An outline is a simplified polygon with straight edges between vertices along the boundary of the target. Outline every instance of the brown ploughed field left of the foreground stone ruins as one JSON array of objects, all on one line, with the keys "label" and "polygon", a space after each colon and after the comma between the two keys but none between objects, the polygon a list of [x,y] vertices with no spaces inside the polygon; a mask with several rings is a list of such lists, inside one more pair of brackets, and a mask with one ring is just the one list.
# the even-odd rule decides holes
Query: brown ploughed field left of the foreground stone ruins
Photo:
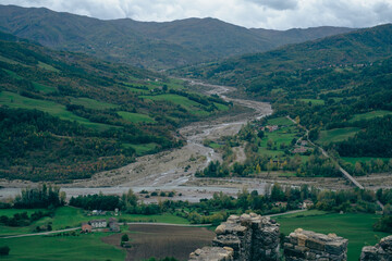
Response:
[{"label": "brown ploughed field left of the foreground stone ruins", "polygon": [[[126,250],[126,260],[145,260],[151,257],[174,257],[187,260],[197,248],[210,246],[215,233],[206,227],[184,227],[168,225],[131,225],[126,234],[131,248]],[[124,233],[103,237],[102,241],[120,247]]]}]

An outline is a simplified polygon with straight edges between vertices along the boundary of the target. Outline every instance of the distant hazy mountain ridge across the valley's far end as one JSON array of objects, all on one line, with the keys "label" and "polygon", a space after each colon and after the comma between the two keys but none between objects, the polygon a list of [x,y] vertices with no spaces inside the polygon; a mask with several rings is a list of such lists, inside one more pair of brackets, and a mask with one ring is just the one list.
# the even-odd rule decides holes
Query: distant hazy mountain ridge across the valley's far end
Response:
[{"label": "distant hazy mountain ridge across the valley's far end", "polygon": [[247,29],[216,18],[166,23],[101,21],[45,8],[0,5],[0,29],[44,46],[114,62],[170,69],[354,30],[317,27],[284,32]]}]

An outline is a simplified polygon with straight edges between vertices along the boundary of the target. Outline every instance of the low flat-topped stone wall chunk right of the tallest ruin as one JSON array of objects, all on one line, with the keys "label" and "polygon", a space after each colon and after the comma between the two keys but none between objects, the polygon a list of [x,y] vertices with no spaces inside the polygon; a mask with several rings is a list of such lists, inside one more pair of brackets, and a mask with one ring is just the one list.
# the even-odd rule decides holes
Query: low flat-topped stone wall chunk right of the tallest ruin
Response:
[{"label": "low flat-topped stone wall chunk right of the tallest ruin", "polygon": [[348,240],[335,234],[319,234],[297,228],[284,241],[286,261],[343,261],[347,260]]}]

